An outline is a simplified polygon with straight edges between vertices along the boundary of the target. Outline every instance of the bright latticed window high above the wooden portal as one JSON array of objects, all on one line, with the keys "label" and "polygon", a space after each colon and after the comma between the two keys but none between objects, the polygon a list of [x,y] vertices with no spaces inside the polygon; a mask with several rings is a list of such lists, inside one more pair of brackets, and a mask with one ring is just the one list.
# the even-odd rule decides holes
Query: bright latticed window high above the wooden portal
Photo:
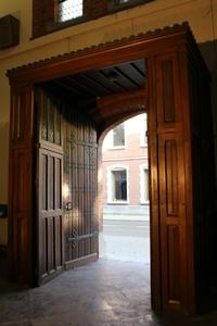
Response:
[{"label": "bright latticed window high above the wooden portal", "polygon": [[82,16],[82,0],[59,0],[59,22]]}]

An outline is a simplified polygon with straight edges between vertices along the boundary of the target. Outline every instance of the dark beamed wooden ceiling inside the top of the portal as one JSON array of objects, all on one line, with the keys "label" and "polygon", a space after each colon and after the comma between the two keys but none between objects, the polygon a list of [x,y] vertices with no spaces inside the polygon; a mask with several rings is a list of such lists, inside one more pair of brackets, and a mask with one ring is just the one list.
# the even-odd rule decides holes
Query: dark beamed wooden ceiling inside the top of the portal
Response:
[{"label": "dark beamed wooden ceiling inside the top of the portal", "polygon": [[52,79],[43,86],[59,96],[90,99],[144,88],[145,75],[144,60],[137,60]]}]

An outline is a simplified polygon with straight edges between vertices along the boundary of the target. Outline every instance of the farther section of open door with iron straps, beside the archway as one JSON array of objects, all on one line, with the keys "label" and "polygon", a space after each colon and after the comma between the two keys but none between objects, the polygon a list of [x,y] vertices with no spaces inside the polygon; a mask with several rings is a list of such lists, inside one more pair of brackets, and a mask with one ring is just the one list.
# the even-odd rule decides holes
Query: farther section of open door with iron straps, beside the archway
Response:
[{"label": "farther section of open door with iron straps, beside the archway", "polygon": [[64,202],[66,268],[95,261],[99,254],[97,131],[78,108],[65,108]]}]

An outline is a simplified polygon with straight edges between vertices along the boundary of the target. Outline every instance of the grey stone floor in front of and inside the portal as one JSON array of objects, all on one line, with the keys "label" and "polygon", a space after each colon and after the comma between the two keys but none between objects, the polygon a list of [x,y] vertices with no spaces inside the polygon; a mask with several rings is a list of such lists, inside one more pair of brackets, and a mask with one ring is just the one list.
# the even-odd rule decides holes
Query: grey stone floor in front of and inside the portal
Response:
[{"label": "grey stone floor in front of and inside the portal", "polygon": [[192,317],[152,313],[149,268],[144,262],[100,259],[64,272],[40,288],[23,290],[9,286],[1,275],[0,325],[217,325],[217,313]]}]

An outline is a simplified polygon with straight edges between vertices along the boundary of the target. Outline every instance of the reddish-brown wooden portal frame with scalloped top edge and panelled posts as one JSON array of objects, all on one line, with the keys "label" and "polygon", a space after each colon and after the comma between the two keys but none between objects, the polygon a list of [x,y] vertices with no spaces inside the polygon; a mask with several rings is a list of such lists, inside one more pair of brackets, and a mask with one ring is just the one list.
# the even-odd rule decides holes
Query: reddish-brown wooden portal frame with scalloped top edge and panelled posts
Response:
[{"label": "reddish-brown wooden portal frame with scalloped top edge and panelled posts", "polygon": [[[48,59],[8,73],[11,84],[10,268],[14,278],[26,281],[33,276],[34,85],[138,59],[145,61],[148,74],[143,91],[151,166],[152,306],[192,313],[197,308],[197,283],[203,276],[196,266],[204,260],[203,253],[196,250],[203,238],[195,228],[197,218],[205,218],[203,210],[208,201],[203,209],[196,203],[205,191],[214,193],[214,184],[212,177],[209,184],[199,181],[202,168],[209,166],[209,175],[213,173],[212,147],[206,147],[208,162],[195,168],[194,158],[200,156],[201,143],[210,143],[209,76],[188,24]],[[205,127],[201,128],[204,109]],[[116,118],[125,115],[120,106],[119,111],[110,117],[110,124],[114,123],[115,115]],[[107,127],[106,105],[101,103],[93,114],[102,133]],[[207,193],[203,198],[207,199]]]}]

